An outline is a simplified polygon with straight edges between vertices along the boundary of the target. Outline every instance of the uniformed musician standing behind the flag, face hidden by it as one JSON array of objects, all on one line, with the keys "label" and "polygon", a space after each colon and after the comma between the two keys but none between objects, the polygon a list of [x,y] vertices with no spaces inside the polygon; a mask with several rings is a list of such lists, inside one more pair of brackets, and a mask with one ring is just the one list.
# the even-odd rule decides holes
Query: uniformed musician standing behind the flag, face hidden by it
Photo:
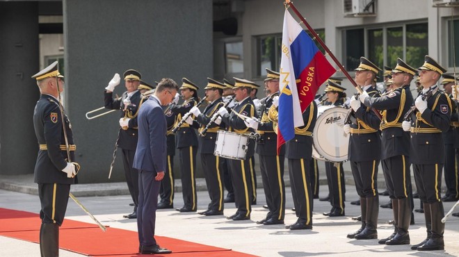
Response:
[{"label": "uniformed musician standing behind the flag, face hidden by it", "polygon": [[[268,110],[269,119],[274,122],[274,131],[277,131],[277,106],[279,97],[273,97],[273,105]],[[289,163],[290,188],[298,219],[295,223],[285,226],[286,229],[312,229],[312,209],[314,206],[312,187],[309,182],[309,163],[312,158],[312,131],[316,126],[317,105],[315,101],[303,112],[304,126],[295,128],[295,138],[285,144],[285,156]],[[301,151],[298,151],[301,149]]]}]

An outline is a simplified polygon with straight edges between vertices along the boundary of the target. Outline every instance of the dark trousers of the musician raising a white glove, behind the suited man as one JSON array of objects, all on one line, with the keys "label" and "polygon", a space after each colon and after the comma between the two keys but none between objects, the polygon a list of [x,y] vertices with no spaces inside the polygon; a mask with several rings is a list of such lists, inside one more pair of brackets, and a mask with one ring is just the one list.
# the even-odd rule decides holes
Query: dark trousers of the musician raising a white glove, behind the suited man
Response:
[{"label": "dark trousers of the musician raising a white glove, behind the suited man", "polygon": [[135,150],[122,149],[122,163],[124,166],[124,176],[126,176],[127,188],[131,194],[132,201],[134,201],[134,211],[137,210],[138,205],[138,170],[134,169],[134,155]]}]

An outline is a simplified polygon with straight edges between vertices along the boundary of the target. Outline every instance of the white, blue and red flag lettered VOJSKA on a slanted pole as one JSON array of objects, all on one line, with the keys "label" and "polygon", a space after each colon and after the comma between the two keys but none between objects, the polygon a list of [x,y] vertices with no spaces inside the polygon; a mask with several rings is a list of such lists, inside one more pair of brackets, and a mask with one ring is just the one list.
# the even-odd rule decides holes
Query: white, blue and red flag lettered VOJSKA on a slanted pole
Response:
[{"label": "white, blue and red flag lettered VOJSKA on a slanted pole", "polygon": [[295,137],[296,127],[304,126],[303,111],[314,101],[322,83],[335,72],[336,69],[286,9],[282,29],[277,151]]}]

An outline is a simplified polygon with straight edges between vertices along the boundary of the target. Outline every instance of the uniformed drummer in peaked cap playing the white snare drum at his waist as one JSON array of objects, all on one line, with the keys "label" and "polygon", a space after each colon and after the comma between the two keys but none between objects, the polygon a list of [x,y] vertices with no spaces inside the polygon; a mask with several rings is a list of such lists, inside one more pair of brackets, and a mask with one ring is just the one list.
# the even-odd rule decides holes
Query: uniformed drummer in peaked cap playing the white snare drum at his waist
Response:
[{"label": "uniformed drummer in peaked cap playing the white snare drum at his waist", "polygon": [[[250,92],[253,88],[257,87],[252,81],[242,78],[234,78],[234,94],[238,103],[232,108],[232,112],[228,113],[227,108],[220,107],[218,115],[221,116],[222,121],[227,127],[227,131],[236,134],[245,134],[255,132],[253,128],[248,127],[244,119],[236,115],[239,113],[246,117],[257,117],[255,113],[255,106],[252,99],[250,99]],[[230,162],[230,172],[234,185],[234,196],[236,204],[236,213],[227,217],[232,220],[250,219],[252,212],[252,181],[251,181],[251,167],[250,158],[255,153],[255,140],[248,139],[248,150],[243,160],[228,160]]]}]

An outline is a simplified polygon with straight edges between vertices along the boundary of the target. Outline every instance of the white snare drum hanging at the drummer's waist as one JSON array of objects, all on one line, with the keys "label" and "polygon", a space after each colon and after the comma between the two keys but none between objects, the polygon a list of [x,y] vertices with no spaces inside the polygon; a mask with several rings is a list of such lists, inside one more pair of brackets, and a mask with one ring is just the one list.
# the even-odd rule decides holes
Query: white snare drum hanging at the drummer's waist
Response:
[{"label": "white snare drum hanging at the drummer's waist", "polygon": [[244,160],[248,150],[248,136],[234,132],[218,131],[215,142],[215,156]]}]

